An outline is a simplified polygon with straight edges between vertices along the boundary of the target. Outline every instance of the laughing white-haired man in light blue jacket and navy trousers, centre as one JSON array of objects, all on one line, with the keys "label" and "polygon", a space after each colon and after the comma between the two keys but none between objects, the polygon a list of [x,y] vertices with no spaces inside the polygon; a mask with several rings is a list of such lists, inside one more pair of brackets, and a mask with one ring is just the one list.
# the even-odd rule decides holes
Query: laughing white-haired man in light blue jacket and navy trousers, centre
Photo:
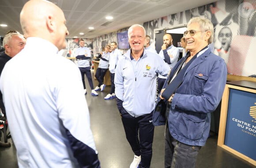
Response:
[{"label": "laughing white-haired man in light blue jacket and navy trousers, centre", "polygon": [[118,61],[115,74],[117,107],[126,138],[135,153],[130,168],[137,168],[140,161],[142,168],[150,167],[156,73],[167,76],[170,70],[157,53],[144,50],[145,37],[145,29],[141,25],[128,29],[131,49]]}]

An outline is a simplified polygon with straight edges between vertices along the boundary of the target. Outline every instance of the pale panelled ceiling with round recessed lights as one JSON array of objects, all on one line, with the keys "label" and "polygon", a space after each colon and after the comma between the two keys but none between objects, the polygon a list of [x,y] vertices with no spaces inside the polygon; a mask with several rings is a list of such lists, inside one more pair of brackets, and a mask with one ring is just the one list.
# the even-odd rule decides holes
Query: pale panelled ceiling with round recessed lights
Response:
[{"label": "pale panelled ceiling with round recessed lights", "polygon": [[[0,0],[0,36],[14,29],[23,33],[19,23],[19,13],[28,0]],[[94,38],[133,24],[143,24],[156,18],[210,4],[216,0],[50,0],[63,11],[67,20],[68,38]],[[113,16],[109,22],[106,16]],[[90,32],[88,27],[94,27]],[[84,35],[79,35],[83,32]]]}]

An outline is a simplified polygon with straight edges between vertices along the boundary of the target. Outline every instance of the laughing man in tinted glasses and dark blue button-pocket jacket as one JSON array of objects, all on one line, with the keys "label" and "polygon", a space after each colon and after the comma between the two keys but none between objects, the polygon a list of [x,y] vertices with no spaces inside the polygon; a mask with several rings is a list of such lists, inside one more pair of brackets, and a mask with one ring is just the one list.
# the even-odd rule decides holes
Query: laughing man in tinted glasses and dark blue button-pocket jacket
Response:
[{"label": "laughing man in tinted glasses and dark blue button-pocket jacket", "polygon": [[158,99],[168,100],[166,113],[153,116],[154,125],[166,124],[165,168],[196,167],[210,131],[211,112],[226,84],[226,64],[208,47],[214,37],[211,21],[192,18],[187,29],[189,52],[171,70]]}]

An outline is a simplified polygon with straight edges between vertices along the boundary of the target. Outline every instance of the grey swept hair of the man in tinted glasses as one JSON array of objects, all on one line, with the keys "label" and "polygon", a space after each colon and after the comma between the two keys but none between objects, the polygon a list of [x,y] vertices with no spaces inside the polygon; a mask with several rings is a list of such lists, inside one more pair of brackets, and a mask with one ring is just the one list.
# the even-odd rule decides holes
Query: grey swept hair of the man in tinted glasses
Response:
[{"label": "grey swept hair of the man in tinted glasses", "polygon": [[[190,26],[192,23],[198,23],[200,25],[201,31],[211,31],[211,37],[208,40],[208,43],[211,44],[214,37],[214,29],[213,29],[212,22],[209,19],[204,17],[196,17],[196,18],[190,19],[190,21],[187,24],[187,27]],[[202,35],[204,33],[202,33]]]}]

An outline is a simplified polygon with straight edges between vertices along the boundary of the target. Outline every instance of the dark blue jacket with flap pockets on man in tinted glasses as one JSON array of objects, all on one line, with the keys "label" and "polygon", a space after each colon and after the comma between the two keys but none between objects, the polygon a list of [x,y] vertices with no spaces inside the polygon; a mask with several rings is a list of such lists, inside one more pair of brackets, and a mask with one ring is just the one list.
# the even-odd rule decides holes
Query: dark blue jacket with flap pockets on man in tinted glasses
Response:
[{"label": "dark blue jacket with flap pockets on man in tinted glasses", "polygon": [[[179,62],[169,77],[173,76]],[[224,60],[211,53],[209,48],[191,63],[169,110],[169,130],[174,139],[192,146],[204,146],[210,131],[211,112],[222,99],[226,78]],[[166,87],[167,80],[163,88]],[[165,114],[154,112],[153,124],[166,124]]]}]

